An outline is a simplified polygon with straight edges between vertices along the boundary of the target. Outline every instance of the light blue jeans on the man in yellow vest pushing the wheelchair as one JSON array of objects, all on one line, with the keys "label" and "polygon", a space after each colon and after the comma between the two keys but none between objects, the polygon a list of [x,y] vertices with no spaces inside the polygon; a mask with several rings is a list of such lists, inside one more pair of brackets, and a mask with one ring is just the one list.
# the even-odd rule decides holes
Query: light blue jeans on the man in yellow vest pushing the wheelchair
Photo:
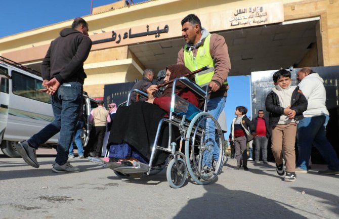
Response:
[{"label": "light blue jeans on the man in yellow vest pushing the wheelchair", "polygon": [[[218,120],[221,112],[224,110],[226,97],[216,97],[207,102],[207,112]],[[216,125],[211,119],[206,120],[206,130],[204,142],[206,150],[203,153],[202,162],[210,167],[212,159],[219,160],[219,139],[216,140]]]}]

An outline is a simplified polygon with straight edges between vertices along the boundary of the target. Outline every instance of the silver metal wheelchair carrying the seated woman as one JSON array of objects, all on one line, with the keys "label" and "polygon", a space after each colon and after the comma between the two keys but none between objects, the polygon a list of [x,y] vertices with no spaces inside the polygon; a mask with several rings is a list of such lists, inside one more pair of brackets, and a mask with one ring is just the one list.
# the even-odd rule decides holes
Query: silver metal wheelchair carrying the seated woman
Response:
[{"label": "silver metal wheelchair carrying the seated woman", "polygon": [[[204,100],[202,110],[175,94],[175,86],[178,81],[188,86]],[[133,166],[112,168],[116,176],[119,178],[128,178],[130,176],[135,176],[135,174],[152,175],[160,172],[167,166],[166,178],[172,188],[182,187],[188,176],[190,176],[198,185],[206,185],[214,181],[221,172],[224,159],[226,158],[224,156],[224,134],[222,129],[218,121],[206,112],[208,100],[207,89],[204,91],[187,77],[174,79],[169,117],[160,119],[158,123],[155,140],[151,146],[152,153],[149,163],[136,162]],[[130,105],[130,97],[133,92],[147,97],[147,94],[140,90],[132,90],[129,92],[126,105]],[[213,126],[215,126],[215,129],[211,131],[215,133],[215,139],[211,140],[206,138],[206,132],[208,132],[208,130],[206,130],[206,123],[214,124]],[[159,139],[161,139],[160,130],[165,124],[169,127],[167,148],[158,145]],[[176,138],[176,140],[179,140],[179,138],[182,139],[183,146],[185,146],[184,153],[181,152],[180,149],[177,150],[177,143],[172,141],[173,128],[177,128],[180,132],[180,136]],[[214,161],[214,164],[211,164],[211,170],[206,173],[203,169],[204,154],[207,150],[211,149],[210,143],[213,141],[215,141],[219,147],[219,160]],[[159,150],[169,154],[166,159],[167,165],[153,165],[155,154]],[[107,150],[106,156],[108,155],[109,151]],[[104,164],[101,163],[101,165]]]}]

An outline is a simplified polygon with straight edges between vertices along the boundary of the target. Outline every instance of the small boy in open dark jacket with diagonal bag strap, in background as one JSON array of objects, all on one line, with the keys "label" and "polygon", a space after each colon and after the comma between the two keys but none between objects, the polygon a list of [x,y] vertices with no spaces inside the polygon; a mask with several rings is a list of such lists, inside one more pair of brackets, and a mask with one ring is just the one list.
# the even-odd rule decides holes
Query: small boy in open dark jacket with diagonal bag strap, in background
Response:
[{"label": "small boy in open dark jacket with diagonal bag strap, in background", "polygon": [[253,139],[253,136],[248,130],[251,121],[247,118],[246,113],[246,107],[236,107],[234,112],[236,117],[233,119],[231,125],[230,141],[234,141],[235,158],[237,159],[238,163],[234,169],[240,169],[242,155],[242,167],[244,168],[244,170],[248,170],[246,143],[251,141]]}]

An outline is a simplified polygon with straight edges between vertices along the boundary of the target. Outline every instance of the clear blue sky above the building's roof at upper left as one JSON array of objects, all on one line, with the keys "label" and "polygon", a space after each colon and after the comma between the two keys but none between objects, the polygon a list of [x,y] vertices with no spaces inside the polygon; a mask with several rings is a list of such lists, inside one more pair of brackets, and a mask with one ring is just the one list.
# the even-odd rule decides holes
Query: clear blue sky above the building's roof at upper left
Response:
[{"label": "clear blue sky above the building's roof at upper left", "polygon": [[[0,38],[26,30],[89,15],[91,0],[12,0],[1,1]],[[117,2],[93,0],[93,7]],[[146,0],[134,0],[134,3]]]}]

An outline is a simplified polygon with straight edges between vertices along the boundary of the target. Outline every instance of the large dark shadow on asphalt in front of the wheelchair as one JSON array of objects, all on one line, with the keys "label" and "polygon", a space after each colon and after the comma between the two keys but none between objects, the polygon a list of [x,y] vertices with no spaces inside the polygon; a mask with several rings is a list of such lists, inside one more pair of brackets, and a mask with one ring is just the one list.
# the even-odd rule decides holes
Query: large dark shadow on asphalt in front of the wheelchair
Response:
[{"label": "large dark shadow on asphalt in front of the wheelchair", "polygon": [[207,191],[205,195],[201,198],[190,200],[174,219],[307,218],[287,209],[274,200],[250,192],[229,190],[218,184],[209,184],[204,186],[204,188]]}]

